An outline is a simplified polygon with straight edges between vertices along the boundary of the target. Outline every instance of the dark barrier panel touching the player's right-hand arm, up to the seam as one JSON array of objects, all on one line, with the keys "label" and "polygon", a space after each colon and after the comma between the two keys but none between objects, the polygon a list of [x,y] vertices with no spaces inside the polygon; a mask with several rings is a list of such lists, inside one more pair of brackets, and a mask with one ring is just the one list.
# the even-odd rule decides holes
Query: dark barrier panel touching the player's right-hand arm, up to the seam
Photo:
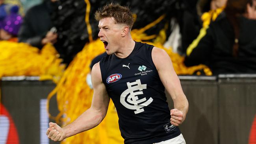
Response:
[{"label": "dark barrier panel touching the player's right-hand arm, up to the seam", "polygon": [[[180,126],[187,144],[218,144],[218,86],[216,77],[179,76],[189,102],[186,120]],[[166,92],[170,109],[171,96]]]}]

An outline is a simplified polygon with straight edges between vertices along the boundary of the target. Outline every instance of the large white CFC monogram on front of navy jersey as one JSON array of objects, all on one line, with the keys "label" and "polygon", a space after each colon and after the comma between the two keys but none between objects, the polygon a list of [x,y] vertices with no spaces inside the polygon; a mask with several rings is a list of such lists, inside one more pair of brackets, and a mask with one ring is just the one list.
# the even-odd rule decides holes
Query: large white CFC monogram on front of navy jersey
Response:
[{"label": "large white CFC monogram on front of navy jersey", "polygon": [[[151,102],[153,102],[153,99],[151,97],[148,100],[146,98],[142,98],[139,100],[137,95],[143,94],[142,90],[147,89],[147,84],[141,85],[140,79],[137,79],[135,82],[132,83],[128,82],[127,87],[128,89],[124,90],[124,92],[122,92],[121,94],[120,102],[127,109],[136,110],[134,111],[135,114],[143,112],[143,107],[146,107]],[[128,103],[125,101],[126,97]]]}]

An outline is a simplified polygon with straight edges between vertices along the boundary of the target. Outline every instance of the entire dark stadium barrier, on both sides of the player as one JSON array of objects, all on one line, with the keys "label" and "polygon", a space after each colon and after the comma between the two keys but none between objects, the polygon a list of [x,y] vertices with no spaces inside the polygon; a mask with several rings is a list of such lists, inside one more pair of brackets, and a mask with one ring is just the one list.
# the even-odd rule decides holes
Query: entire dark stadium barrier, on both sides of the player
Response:
[{"label": "entire dark stadium barrier, on both sides of the player", "polygon": [[[179,78],[189,101],[189,113],[180,126],[187,144],[248,144],[256,115],[256,75]],[[56,144],[45,137],[46,97],[55,84],[38,77],[4,77],[0,87],[1,103],[13,119],[20,144]],[[167,101],[173,108],[169,94]],[[50,112],[58,113],[54,98]],[[2,126],[6,121],[0,120]]]}]

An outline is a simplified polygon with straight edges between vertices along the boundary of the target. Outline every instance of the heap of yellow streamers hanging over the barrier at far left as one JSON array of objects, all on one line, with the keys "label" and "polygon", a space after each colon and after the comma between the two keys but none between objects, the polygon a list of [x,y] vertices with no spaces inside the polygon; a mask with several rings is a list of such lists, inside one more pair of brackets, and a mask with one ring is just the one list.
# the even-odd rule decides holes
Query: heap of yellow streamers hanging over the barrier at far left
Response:
[{"label": "heap of yellow streamers hanging over the barrier at far left", "polygon": [[0,78],[2,76],[40,76],[57,82],[65,65],[51,44],[42,50],[25,43],[0,41]]}]

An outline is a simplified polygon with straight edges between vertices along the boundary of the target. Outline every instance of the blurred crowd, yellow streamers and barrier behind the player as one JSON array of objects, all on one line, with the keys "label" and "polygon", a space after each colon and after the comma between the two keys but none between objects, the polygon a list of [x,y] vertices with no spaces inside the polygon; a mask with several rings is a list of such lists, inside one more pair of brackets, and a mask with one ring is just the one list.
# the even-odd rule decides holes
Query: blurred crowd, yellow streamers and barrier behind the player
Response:
[{"label": "blurred crowd, yellow streamers and barrier behind the player", "polygon": [[135,41],[171,57],[189,101],[187,144],[256,144],[256,0],[0,0],[0,144],[123,143],[112,102],[94,129],[45,135],[91,106],[105,52],[94,13],[111,2],[130,7]]}]

